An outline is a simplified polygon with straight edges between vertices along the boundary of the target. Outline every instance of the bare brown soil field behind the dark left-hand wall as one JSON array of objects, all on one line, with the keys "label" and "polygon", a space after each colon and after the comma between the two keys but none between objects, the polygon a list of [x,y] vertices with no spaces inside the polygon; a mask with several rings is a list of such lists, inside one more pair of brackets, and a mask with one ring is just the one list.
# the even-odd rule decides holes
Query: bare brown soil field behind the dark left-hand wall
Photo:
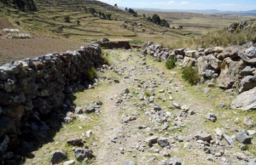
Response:
[{"label": "bare brown soil field behind the dark left-hand wall", "polygon": [[[4,28],[17,28],[9,24],[6,19],[0,19],[0,31]],[[66,52],[76,50],[85,43],[70,41],[67,39],[43,37],[32,35],[32,39],[9,39],[6,34],[0,36],[0,65],[13,60],[34,58],[53,52]]]}]

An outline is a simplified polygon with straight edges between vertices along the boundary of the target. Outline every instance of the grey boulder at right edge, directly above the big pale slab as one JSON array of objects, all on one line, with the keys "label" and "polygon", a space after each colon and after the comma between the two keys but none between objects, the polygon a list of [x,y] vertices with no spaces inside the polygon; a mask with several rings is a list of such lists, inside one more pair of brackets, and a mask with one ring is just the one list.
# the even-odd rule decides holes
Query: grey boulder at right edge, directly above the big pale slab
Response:
[{"label": "grey boulder at right edge, directly above the big pale slab", "polygon": [[254,87],[256,87],[256,77],[253,77],[253,76],[244,77],[240,83],[239,93],[250,90]]}]

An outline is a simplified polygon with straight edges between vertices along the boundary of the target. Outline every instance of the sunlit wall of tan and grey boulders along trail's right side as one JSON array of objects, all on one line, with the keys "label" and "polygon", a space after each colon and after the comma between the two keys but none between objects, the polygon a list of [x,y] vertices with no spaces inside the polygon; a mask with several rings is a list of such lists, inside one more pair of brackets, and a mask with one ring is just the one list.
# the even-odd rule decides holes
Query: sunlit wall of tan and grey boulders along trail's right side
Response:
[{"label": "sunlit wall of tan and grey boulders along trail's right side", "polygon": [[[244,111],[256,107],[256,45],[246,43],[228,48],[163,48],[152,42],[144,43],[143,55],[152,55],[155,60],[168,60],[170,57],[185,67],[195,67],[201,75],[201,83],[216,82],[227,92],[238,90],[240,94],[231,104],[233,109]],[[245,99],[246,98],[246,99]]]}]

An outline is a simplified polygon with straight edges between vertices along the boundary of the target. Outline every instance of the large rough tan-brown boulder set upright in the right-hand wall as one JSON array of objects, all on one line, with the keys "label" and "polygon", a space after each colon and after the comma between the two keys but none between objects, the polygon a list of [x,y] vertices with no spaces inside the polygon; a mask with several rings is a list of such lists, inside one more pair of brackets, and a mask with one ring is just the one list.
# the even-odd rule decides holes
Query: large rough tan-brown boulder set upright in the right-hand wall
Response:
[{"label": "large rough tan-brown boulder set upright in the right-hand wall", "polygon": [[224,59],[221,65],[221,72],[217,79],[219,88],[232,88],[233,84],[241,79],[241,71],[245,64],[242,60],[233,61],[230,58]]}]

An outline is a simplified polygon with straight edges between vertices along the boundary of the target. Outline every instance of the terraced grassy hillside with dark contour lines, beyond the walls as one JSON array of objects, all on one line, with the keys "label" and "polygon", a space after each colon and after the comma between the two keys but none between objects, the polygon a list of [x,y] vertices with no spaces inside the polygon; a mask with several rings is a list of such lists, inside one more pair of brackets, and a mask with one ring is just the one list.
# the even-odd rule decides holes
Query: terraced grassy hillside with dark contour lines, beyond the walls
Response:
[{"label": "terraced grassy hillside with dark contour lines, beyond the walls", "polygon": [[[26,31],[39,32],[49,36],[68,37],[83,42],[92,39],[102,40],[170,40],[189,34],[188,31],[172,30],[148,22],[143,16],[133,16],[128,12],[95,0],[75,1],[36,1],[38,11],[17,12],[17,9],[2,7],[12,21],[20,21],[20,27]],[[84,11],[96,9],[96,14]],[[86,10],[85,9],[85,10]],[[99,12],[112,14],[110,20],[101,19]],[[64,20],[70,16],[70,22]],[[79,21],[79,23],[78,23]]]}]

